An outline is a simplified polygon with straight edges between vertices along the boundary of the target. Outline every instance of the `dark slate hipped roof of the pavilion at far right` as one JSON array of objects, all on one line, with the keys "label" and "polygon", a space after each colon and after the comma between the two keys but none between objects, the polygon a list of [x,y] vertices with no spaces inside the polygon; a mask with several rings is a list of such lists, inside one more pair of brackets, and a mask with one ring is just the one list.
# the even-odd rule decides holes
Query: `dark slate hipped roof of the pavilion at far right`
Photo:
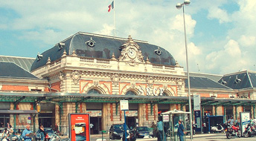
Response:
[{"label": "dark slate hipped roof of the pavilion at far right", "polygon": [[255,73],[241,71],[226,74],[218,82],[223,83],[224,85],[233,89],[253,88],[256,86],[256,76]]}]

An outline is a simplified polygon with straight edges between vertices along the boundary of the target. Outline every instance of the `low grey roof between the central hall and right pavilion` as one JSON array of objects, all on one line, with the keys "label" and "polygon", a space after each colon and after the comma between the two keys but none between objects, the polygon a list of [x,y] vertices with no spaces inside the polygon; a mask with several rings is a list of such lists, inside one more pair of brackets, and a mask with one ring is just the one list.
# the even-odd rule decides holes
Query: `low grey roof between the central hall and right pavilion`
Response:
[{"label": "low grey roof between the central hall and right pavilion", "polygon": [[[225,85],[222,85],[206,77],[190,76],[189,78],[191,80],[191,88],[231,90],[231,88],[228,88]],[[185,88],[188,88],[188,79],[185,79]]]}]

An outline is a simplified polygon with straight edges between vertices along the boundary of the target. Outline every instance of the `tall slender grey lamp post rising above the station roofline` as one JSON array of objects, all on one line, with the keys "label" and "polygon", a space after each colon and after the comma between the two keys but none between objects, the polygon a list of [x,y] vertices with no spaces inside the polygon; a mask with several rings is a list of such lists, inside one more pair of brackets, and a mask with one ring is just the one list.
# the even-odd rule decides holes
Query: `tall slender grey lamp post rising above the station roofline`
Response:
[{"label": "tall slender grey lamp post rising above the station roofline", "polygon": [[185,0],[182,4],[178,3],[176,4],[177,9],[183,8],[183,21],[184,21],[184,33],[185,33],[185,48],[186,48],[186,62],[187,62],[187,76],[188,76],[188,105],[189,105],[189,122],[190,122],[190,131],[191,131],[191,140],[193,140],[192,137],[192,111],[191,111],[191,81],[189,78],[189,68],[188,68],[188,47],[187,47],[187,36],[186,36],[186,25],[185,25],[185,13],[184,13],[184,5],[191,4],[191,1]]}]

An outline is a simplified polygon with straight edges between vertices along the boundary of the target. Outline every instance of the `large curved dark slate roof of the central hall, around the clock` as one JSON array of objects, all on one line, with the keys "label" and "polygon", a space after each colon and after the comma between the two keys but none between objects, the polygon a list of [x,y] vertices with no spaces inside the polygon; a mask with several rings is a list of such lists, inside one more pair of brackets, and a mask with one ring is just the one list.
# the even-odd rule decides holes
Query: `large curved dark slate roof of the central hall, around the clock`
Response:
[{"label": "large curved dark slate roof of the central hall, around the clock", "polygon": [[[89,42],[91,38],[93,41],[95,41],[94,47],[89,47],[89,45],[86,45],[86,42]],[[85,56],[97,59],[111,59],[112,53],[115,53],[115,58],[118,59],[121,55],[119,47],[124,45],[124,42],[126,41],[127,39],[114,36],[103,36],[82,32],[76,33],[73,36],[70,36],[68,39],[62,41],[62,43],[65,43],[65,46],[62,49],[59,49],[59,45],[57,44],[51,49],[42,53],[42,59],[36,59],[33,62],[31,71],[45,65],[48,57],[50,57],[51,61],[60,59],[64,50],[66,51],[67,55],[71,55],[73,50],[75,50],[77,56]],[[157,50],[159,46],[150,45],[148,42],[142,42],[138,40],[134,41],[138,44],[139,47],[141,47],[141,53],[144,56],[145,61],[148,56],[150,62],[153,64],[175,65],[175,59],[167,50],[164,50],[164,48],[160,47],[161,55],[158,56],[155,53],[155,50]]]}]

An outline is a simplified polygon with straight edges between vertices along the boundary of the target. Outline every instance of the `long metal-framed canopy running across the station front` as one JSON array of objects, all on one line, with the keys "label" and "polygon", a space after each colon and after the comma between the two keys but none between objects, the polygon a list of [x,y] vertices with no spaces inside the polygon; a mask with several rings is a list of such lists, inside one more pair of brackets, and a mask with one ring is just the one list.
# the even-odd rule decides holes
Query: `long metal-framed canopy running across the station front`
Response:
[{"label": "long metal-framed canopy running across the station front", "polygon": [[[129,100],[130,103],[145,104],[181,104],[188,105],[187,96],[138,96],[114,94],[77,94],[77,93],[10,93],[1,92],[0,102],[104,102],[117,103]],[[193,99],[192,99],[193,100]],[[221,99],[215,97],[201,97],[201,105],[256,105],[254,99]]]}]

